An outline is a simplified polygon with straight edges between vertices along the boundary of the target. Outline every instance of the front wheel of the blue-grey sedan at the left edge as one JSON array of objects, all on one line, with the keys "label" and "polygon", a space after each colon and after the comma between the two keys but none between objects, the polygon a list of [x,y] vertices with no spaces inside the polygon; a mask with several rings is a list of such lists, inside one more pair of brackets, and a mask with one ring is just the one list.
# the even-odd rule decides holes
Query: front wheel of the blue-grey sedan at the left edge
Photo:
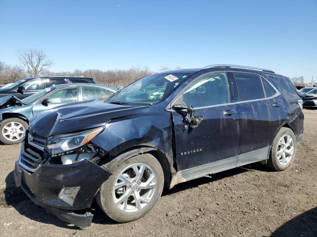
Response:
[{"label": "front wheel of the blue-grey sedan at the left edge", "polygon": [[0,141],[5,145],[21,143],[28,128],[29,124],[20,118],[4,119],[0,123]]}]

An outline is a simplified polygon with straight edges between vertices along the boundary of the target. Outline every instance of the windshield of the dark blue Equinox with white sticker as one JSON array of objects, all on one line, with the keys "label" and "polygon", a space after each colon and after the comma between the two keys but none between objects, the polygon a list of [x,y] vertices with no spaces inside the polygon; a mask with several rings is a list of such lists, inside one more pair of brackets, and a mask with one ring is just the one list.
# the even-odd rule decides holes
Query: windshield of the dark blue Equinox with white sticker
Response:
[{"label": "windshield of the dark blue Equinox with white sticker", "polygon": [[106,102],[124,105],[152,105],[169,96],[191,74],[155,74],[122,88]]}]

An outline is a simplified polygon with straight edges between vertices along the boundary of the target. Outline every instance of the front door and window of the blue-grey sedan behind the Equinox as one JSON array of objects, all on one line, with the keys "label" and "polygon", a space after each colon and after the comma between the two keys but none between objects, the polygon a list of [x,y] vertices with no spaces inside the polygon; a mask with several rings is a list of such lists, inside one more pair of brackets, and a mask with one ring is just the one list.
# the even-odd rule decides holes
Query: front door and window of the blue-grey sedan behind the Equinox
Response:
[{"label": "front door and window of the blue-grey sedan behind the Equinox", "polygon": [[[79,98],[78,86],[70,86],[66,88],[62,88],[53,93],[41,98],[33,107],[33,116],[45,111],[53,109],[56,106],[78,102]],[[43,104],[42,101],[44,99],[49,99],[50,103]]]}]

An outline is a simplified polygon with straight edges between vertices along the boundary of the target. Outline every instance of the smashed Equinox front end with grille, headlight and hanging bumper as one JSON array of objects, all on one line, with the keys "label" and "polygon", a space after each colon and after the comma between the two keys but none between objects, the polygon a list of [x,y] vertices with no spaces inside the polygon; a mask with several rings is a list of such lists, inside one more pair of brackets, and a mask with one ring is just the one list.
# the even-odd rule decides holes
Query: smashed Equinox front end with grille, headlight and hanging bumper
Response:
[{"label": "smashed Equinox front end with grille, headlight and hanging bumper", "polygon": [[111,173],[98,163],[107,153],[90,143],[102,128],[53,136],[46,142],[37,134],[26,134],[14,179],[17,187],[37,205],[62,221],[89,229],[90,208],[101,185]]}]

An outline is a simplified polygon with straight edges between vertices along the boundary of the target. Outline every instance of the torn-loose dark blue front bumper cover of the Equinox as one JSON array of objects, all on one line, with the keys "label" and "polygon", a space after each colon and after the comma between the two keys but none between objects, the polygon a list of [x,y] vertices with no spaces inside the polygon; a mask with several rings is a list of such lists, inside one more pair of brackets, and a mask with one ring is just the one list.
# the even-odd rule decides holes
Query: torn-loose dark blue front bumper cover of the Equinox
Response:
[{"label": "torn-loose dark blue front bumper cover of the Equinox", "polygon": [[[100,186],[110,174],[87,159],[71,165],[42,164],[33,173],[23,169],[18,161],[14,168],[16,186],[21,187],[36,205],[80,229],[89,229],[93,214],[78,214],[74,211],[91,207]],[[73,205],[58,198],[64,187],[80,187]]]}]

